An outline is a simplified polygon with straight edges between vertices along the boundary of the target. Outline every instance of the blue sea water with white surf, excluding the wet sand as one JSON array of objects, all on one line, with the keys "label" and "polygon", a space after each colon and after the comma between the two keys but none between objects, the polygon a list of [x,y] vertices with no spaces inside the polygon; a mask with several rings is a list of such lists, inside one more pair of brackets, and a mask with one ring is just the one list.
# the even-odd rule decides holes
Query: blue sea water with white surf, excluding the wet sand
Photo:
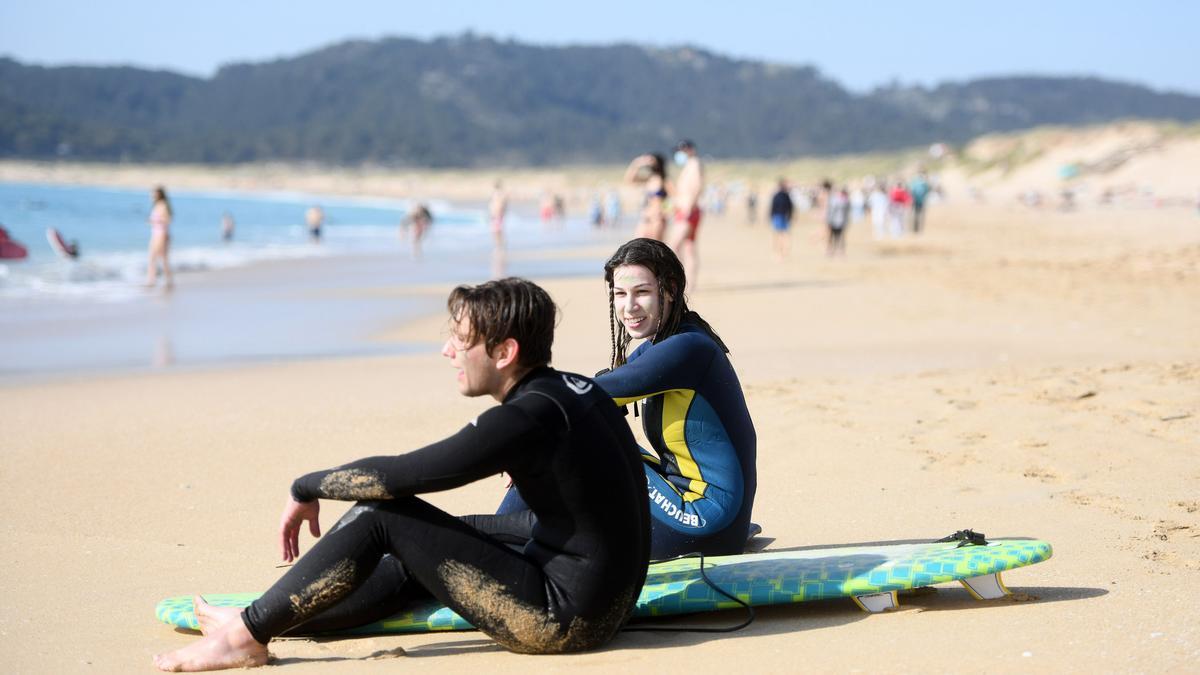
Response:
[{"label": "blue sea water with white surf, excluding the wet sand", "polygon": [[[401,223],[412,204],[402,199],[182,191],[169,197],[174,211],[170,262],[176,273],[407,250]],[[325,213],[325,226],[319,244],[314,244],[305,211],[318,204]],[[490,244],[481,211],[446,203],[431,208],[438,235],[426,243],[430,252]],[[137,297],[137,285],[145,279],[149,214],[149,191],[0,184],[0,225],[29,250],[24,261],[0,261],[0,297]],[[234,219],[230,241],[221,238],[223,214]],[[78,259],[55,253],[47,239],[49,228],[78,243]],[[518,247],[528,244],[520,240],[518,234]]]}]

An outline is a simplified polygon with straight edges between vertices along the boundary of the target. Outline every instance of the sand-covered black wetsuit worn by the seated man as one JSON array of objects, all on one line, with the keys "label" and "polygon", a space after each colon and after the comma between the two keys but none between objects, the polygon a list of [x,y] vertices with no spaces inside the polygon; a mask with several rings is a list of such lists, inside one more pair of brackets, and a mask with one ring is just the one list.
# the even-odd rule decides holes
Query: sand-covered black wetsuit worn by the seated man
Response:
[{"label": "sand-covered black wetsuit worn by the seated man", "polygon": [[[499,472],[530,510],[455,518],[413,496]],[[265,644],[370,623],[432,595],[512,651],[602,645],[646,580],[644,484],[612,399],[588,378],[536,369],[444,441],[299,478],[296,500],[359,503],[242,620]]]}]

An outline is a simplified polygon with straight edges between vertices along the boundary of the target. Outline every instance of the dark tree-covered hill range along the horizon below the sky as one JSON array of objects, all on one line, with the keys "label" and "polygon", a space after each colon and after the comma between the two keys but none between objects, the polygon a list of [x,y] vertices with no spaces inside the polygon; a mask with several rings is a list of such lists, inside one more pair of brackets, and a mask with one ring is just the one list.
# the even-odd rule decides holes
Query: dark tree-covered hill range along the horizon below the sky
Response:
[{"label": "dark tree-covered hill range along the horizon below the sky", "polygon": [[1200,97],[1046,77],[853,94],[812,67],[691,47],[470,34],[343,42],[211,78],[0,59],[0,157],[13,159],[545,166],[682,137],[716,157],[778,159],[1126,118],[1198,120]]}]

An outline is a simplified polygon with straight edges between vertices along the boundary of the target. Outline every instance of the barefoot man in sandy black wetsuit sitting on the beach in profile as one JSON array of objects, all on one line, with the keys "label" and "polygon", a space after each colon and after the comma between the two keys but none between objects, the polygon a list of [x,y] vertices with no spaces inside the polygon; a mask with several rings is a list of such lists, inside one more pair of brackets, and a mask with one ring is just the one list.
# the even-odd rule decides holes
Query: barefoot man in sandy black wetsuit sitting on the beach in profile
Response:
[{"label": "barefoot man in sandy black wetsuit sitting on the beach in profile", "polygon": [[[516,652],[588,650],[616,635],[649,556],[646,477],[629,426],[590,380],[548,366],[556,309],[536,285],[460,286],[446,305],[442,354],[458,392],[500,405],[425,448],[298,478],[280,525],[287,562],[299,556],[305,521],[320,534],[320,498],[358,503],[244,611],[197,597],[205,637],[155,665],[262,665],[275,637],[362,626],[431,595]],[[460,519],[414,496],[499,472],[529,512]]]}]

